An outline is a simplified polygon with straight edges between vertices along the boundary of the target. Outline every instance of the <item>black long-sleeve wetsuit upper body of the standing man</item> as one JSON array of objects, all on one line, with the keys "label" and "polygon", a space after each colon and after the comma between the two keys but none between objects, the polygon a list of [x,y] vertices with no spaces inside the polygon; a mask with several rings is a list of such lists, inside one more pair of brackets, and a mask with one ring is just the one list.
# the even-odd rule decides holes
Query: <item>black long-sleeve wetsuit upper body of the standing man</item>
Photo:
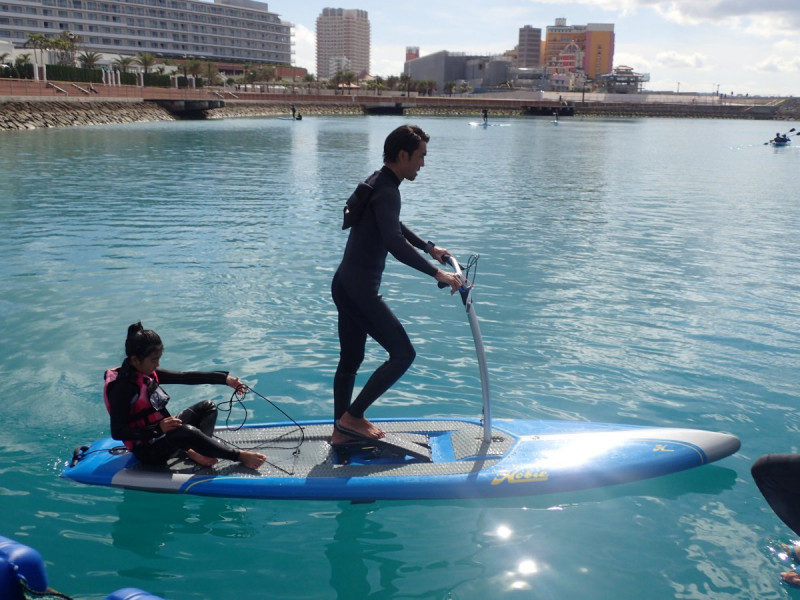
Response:
[{"label": "black long-sleeve wetsuit upper body of the standing man", "polygon": [[409,267],[435,276],[437,268],[414,249],[424,250],[425,241],[400,221],[400,179],[384,166],[373,188],[367,210],[347,238],[338,269],[343,283],[350,289],[377,291],[389,252]]}]

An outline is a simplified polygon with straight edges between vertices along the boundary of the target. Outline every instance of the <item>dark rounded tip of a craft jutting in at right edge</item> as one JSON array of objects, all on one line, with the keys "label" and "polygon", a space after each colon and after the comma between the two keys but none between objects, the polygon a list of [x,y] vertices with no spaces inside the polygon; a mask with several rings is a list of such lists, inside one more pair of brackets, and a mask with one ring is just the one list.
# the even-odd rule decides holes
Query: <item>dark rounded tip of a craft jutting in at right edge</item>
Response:
[{"label": "dark rounded tip of a craft jutting in at right edge", "polygon": [[778,518],[800,535],[800,454],[767,454],[750,473]]}]

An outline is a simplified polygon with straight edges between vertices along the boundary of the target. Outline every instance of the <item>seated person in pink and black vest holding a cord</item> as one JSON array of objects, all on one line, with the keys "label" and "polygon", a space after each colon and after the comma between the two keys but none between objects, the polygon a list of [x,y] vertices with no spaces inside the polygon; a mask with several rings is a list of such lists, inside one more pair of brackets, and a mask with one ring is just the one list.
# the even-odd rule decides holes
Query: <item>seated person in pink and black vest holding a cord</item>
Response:
[{"label": "seated person in pink and black vest holding a cord", "polygon": [[121,440],[145,464],[160,465],[183,450],[194,462],[210,467],[217,459],[238,461],[257,469],[266,456],[239,450],[212,437],[217,406],[198,402],[173,417],[167,410],[169,394],[161,384],[244,385],[227,371],[169,371],[159,363],[164,346],[159,335],[141,323],[128,327],[125,360],[105,374],[103,398],[111,417],[111,437]]}]

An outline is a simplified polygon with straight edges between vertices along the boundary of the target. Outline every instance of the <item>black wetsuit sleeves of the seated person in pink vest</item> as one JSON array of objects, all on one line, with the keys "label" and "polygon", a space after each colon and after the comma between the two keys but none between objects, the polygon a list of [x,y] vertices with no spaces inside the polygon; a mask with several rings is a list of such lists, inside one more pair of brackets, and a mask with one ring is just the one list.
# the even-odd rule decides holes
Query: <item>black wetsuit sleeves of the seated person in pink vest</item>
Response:
[{"label": "black wetsuit sleeves of the seated person in pink vest", "polygon": [[[156,369],[156,375],[158,376],[159,384],[225,384],[228,378],[227,371],[170,371],[168,369]],[[152,423],[145,427],[131,427],[130,406],[139,397],[139,387],[135,382],[130,379],[117,379],[108,385],[107,393],[111,417],[111,437],[115,440],[146,441],[164,435],[159,423]],[[170,416],[166,407],[159,412],[164,418]]]}]

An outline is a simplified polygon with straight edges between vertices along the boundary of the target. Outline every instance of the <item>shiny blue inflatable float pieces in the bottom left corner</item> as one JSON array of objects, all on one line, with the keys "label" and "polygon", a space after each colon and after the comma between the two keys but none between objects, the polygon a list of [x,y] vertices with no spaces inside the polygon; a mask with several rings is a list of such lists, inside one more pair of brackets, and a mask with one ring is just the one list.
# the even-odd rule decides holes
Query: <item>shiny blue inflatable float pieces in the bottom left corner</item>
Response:
[{"label": "shiny blue inflatable float pieces in the bottom left corner", "polygon": [[[37,594],[52,592],[41,555],[33,548],[0,536],[0,598],[25,600],[24,589]],[[63,595],[61,595],[63,597]],[[137,588],[123,588],[105,600],[164,600]]]}]

